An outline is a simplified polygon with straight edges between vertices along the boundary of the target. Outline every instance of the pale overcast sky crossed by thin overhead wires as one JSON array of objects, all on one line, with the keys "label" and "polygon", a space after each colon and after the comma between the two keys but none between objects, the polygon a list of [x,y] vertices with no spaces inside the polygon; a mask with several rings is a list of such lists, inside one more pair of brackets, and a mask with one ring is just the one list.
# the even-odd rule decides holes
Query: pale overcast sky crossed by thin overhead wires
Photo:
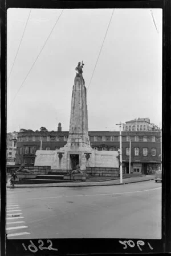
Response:
[{"label": "pale overcast sky crossed by thin overhead wires", "polygon": [[82,60],[89,131],[160,126],[162,9],[8,9],[7,132],[68,131]]}]

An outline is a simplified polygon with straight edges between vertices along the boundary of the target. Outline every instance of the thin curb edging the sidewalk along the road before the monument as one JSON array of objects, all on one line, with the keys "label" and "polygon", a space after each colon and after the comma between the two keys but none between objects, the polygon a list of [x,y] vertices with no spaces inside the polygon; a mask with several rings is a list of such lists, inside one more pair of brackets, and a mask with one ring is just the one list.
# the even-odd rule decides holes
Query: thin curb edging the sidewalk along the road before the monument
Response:
[{"label": "thin curb edging the sidewalk along the road before the monument", "polygon": [[[88,184],[88,185],[67,185],[66,186],[43,186],[43,187],[101,187],[101,186],[119,186],[119,185],[125,185],[125,184],[130,184],[130,183],[138,183],[138,182],[147,182],[148,180],[154,180],[154,179],[146,179],[146,180],[138,180],[136,182],[127,182],[127,183],[118,183],[118,184]],[[17,187],[15,186],[14,188],[43,188],[43,187],[36,187],[36,186],[22,186],[22,187]],[[10,186],[7,186],[7,188],[11,188]]]}]

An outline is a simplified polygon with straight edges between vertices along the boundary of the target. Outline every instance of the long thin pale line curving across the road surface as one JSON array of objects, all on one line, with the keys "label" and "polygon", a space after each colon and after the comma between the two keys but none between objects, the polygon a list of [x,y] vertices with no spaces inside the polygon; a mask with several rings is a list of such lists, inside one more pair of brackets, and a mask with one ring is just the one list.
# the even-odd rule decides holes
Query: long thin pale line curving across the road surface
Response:
[{"label": "long thin pale line curving across the road surface", "polygon": [[47,198],[27,198],[27,200],[32,199],[50,199],[50,198],[70,198],[70,197],[78,197],[78,196],[101,196],[101,195],[121,195],[121,194],[130,194],[130,193],[137,193],[137,192],[146,192],[146,191],[152,191],[152,190],[158,190],[161,187],[157,188],[150,188],[149,190],[138,190],[138,191],[129,191],[129,192],[118,192],[118,193],[109,193],[109,194],[91,194],[91,195],[66,195],[66,196],[51,196]]}]

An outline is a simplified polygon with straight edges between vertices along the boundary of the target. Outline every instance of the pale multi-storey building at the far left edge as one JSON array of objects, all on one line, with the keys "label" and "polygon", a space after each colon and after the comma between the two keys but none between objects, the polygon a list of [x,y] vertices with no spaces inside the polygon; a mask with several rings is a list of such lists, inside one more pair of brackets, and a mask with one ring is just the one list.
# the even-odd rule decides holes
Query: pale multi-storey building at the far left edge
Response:
[{"label": "pale multi-storey building at the far left edge", "polygon": [[17,132],[7,133],[6,145],[7,165],[14,165],[17,152]]}]

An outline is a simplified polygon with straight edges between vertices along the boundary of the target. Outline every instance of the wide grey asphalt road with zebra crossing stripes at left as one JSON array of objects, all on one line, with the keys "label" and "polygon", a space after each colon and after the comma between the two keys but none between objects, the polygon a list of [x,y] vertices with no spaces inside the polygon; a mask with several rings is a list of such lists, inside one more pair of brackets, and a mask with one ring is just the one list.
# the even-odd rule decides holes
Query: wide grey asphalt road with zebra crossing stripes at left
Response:
[{"label": "wide grey asphalt road with zebra crossing stripes at left", "polygon": [[7,188],[7,237],[161,239],[161,183]]}]

